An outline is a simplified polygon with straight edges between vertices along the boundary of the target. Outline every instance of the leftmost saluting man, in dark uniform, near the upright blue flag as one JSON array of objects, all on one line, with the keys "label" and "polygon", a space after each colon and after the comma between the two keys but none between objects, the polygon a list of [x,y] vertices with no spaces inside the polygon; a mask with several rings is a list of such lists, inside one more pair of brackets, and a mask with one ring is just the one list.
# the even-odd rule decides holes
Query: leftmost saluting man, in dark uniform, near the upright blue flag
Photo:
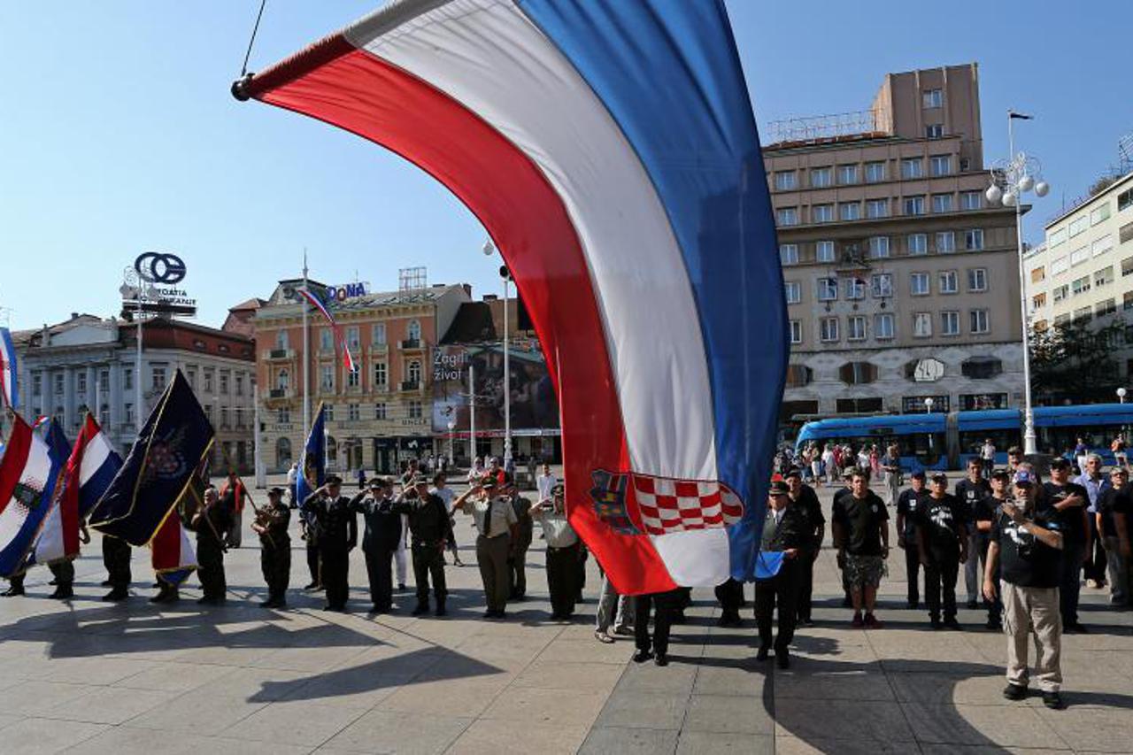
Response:
[{"label": "leftmost saluting man, in dark uniform, near the upright blue flag", "polygon": [[331,475],[326,484],[303,502],[309,512],[314,535],[318,543],[320,576],[326,589],[324,611],[344,611],[350,595],[350,551],[358,544],[358,519],[350,508],[350,499],[341,495],[342,478]]}]

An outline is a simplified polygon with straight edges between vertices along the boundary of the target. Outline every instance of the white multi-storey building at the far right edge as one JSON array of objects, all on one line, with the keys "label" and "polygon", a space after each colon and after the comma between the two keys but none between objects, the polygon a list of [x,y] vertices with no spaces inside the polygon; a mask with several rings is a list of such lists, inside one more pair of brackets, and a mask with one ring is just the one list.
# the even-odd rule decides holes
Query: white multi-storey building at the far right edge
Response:
[{"label": "white multi-storey building at the far right edge", "polygon": [[[1133,313],[1133,173],[1060,213],[1024,257],[1031,328],[1108,324]],[[1128,346],[1119,359],[1130,372]]]}]

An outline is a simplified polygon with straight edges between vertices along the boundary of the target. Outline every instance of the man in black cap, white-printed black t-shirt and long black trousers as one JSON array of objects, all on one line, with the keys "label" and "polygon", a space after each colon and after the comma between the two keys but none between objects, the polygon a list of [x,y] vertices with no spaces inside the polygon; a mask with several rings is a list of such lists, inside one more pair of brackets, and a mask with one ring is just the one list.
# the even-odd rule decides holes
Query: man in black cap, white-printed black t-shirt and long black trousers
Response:
[{"label": "man in black cap, white-printed black t-shirt and long black trousers", "polygon": [[920,501],[917,512],[917,544],[925,567],[925,602],[934,629],[960,629],[956,621],[956,576],[968,560],[966,506],[948,494],[948,476],[932,475],[931,494]]}]

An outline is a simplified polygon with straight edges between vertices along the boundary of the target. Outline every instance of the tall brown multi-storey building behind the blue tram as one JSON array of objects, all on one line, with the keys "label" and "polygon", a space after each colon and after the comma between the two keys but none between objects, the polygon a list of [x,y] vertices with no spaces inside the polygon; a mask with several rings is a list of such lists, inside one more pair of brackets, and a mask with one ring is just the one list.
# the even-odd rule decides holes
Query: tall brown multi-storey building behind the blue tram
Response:
[{"label": "tall brown multi-storey building behind the blue tram", "polygon": [[1020,405],[1015,218],[983,197],[976,63],[889,74],[864,113],[774,127],[782,421]]}]

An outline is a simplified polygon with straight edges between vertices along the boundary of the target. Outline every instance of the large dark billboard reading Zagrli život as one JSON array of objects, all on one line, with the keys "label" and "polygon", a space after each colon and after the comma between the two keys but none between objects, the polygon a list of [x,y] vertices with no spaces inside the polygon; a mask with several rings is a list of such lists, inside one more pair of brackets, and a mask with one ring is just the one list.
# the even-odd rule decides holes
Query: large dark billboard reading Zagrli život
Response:
[{"label": "large dark billboard reading Zagrli \u017eivot", "polygon": [[[512,435],[557,435],[559,401],[555,398],[543,350],[535,339],[508,345],[511,372]],[[469,385],[469,374],[475,387]],[[433,432],[467,433],[471,400],[476,399],[476,434],[502,433],[504,429],[503,345],[453,343],[433,350]]]}]

